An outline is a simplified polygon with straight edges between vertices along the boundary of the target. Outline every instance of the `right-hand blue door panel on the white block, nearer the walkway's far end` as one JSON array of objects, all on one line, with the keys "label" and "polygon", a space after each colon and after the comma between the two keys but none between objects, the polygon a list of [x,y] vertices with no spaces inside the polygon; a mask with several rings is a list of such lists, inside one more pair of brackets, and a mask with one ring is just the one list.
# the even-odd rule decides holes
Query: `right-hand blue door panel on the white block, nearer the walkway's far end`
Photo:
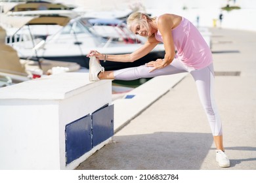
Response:
[{"label": "right-hand blue door panel on the white block, nearer the walkway's far end", "polygon": [[101,108],[92,114],[93,147],[114,135],[114,105]]}]

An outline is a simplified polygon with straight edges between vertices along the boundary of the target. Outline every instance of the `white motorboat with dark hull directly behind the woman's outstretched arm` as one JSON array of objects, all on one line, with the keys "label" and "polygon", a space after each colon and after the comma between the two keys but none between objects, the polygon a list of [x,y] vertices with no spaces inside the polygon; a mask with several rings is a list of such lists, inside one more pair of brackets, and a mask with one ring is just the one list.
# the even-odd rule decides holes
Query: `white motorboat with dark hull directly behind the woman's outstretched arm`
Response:
[{"label": "white motorboat with dark hull directly behind the woman's outstretched arm", "polygon": [[[88,18],[79,16],[70,20],[56,35],[47,37],[43,44],[37,46],[37,49],[35,49],[35,44],[38,44],[39,40],[34,43],[28,41],[15,42],[11,46],[18,51],[20,58],[71,61],[86,68],[89,68],[89,58],[86,55],[90,50],[98,50],[102,54],[128,54],[142,46],[142,41],[133,42],[135,44],[127,44],[127,42],[123,41],[114,41],[113,36],[106,39],[106,37],[98,34],[95,26],[88,24]],[[108,28],[113,29],[113,27]],[[119,34],[117,36],[120,37]],[[158,44],[147,56],[133,63],[108,61],[101,64],[105,67],[106,71],[116,70],[143,65],[148,63],[148,61],[163,58],[163,56],[163,44]]]}]

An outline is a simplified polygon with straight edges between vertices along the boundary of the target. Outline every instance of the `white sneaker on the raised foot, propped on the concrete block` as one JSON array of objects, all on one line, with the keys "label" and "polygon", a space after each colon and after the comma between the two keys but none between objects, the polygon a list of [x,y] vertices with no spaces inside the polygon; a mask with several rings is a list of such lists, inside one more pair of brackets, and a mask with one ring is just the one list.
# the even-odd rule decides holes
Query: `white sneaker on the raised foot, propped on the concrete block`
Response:
[{"label": "white sneaker on the raised foot, propped on the concrete block", "polygon": [[100,65],[100,61],[95,56],[91,57],[89,60],[89,80],[100,80],[98,78],[98,73],[100,72],[104,72],[104,67]]}]

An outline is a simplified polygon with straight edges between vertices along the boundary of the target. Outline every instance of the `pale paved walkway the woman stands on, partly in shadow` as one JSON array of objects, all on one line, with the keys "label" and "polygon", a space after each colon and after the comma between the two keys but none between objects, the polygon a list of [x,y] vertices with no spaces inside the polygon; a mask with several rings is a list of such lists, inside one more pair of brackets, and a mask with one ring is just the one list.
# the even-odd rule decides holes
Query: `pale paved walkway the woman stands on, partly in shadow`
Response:
[{"label": "pale paved walkway the woman stands on, partly in shadow", "polygon": [[[227,169],[256,170],[256,32],[211,32],[215,99],[230,158]],[[237,72],[240,75],[234,76]],[[110,144],[77,169],[223,169],[215,162],[211,131],[192,76],[117,131]]]}]

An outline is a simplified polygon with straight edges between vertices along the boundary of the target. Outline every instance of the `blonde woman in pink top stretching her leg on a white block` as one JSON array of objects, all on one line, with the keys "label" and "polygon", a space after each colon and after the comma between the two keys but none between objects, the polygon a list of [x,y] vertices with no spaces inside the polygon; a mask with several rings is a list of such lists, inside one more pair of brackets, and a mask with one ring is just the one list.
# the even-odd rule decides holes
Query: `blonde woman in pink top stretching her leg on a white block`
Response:
[{"label": "blonde woman in pink top stretching her leg on a white block", "polygon": [[[106,55],[91,50],[87,57],[96,59],[90,61],[90,80],[135,80],[189,72],[196,82],[200,101],[213,133],[213,140],[217,148],[216,160],[220,167],[229,167],[230,161],[224,154],[221,119],[213,97],[213,58],[209,46],[198,29],[186,18],[175,14],[163,14],[150,18],[141,12],[131,14],[127,18],[127,25],[133,33],[148,37],[148,41],[131,54]],[[164,44],[165,57],[150,61],[140,67],[104,71],[98,61],[98,59],[121,62],[135,61],[148,54],[160,42]]]}]

